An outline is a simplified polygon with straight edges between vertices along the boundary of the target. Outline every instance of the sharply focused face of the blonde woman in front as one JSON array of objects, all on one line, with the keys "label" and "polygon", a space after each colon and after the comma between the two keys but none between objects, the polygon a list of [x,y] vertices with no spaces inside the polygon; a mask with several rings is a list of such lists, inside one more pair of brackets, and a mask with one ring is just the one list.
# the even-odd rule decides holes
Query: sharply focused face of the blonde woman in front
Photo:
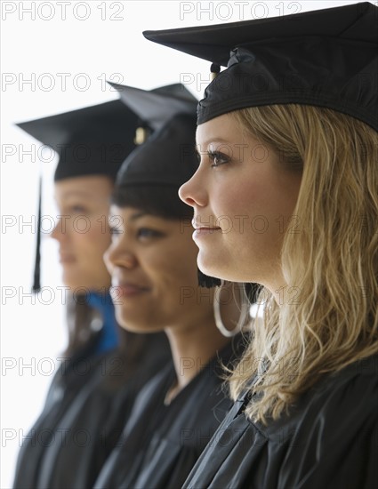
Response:
[{"label": "sharply focused face of the blonde woman in front", "polygon": [[197,150],[199,167],[180,196],[194,208],[199,268],[270,290],[283,285],[280,251],[286,228],[297,231],[301,175],[285,171],[277,154],[243,135],[228,114],[197,127]]}]

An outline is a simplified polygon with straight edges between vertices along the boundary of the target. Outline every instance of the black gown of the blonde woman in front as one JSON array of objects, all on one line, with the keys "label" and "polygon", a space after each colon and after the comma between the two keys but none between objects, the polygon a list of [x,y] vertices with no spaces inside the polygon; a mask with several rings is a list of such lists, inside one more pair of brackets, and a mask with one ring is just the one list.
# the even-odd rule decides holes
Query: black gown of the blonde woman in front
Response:
[{"label": "black gown of the blonde woman in front", "polygon": [[289,416],[249,421],[241,397],[183,485],[186,489],[376,489],[378,357],[326,375]]}]

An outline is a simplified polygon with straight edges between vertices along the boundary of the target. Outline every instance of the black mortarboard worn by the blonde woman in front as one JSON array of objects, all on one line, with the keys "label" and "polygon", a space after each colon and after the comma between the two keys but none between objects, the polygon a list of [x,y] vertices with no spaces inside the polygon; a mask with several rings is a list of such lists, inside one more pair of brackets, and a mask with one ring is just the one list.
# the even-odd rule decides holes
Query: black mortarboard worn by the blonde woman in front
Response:
[{"label": "black mortarboard worn by the blonde woman in front", "polygon": [[206,88],[198,124],[240,108],[298,103],[333,108],[378,130],[377,12],[365,2],[143,34],[212,61],[214,72],[228,67]]}]

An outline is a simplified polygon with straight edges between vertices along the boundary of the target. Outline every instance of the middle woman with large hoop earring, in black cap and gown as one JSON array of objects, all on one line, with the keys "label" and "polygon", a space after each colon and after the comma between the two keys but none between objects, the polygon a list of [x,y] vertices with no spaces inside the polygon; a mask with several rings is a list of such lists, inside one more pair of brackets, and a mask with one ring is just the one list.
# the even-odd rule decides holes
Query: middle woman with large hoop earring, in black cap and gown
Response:
[{"label": "middle woman with large hoop earring, in black cap and gown", "polygon": [[[127,102],[132,90],[123,87]],[[133,94],[135,107],[157,114],[166,97]],[[147,102],[147,100],[149,100]],[[143,103],[144,102],[144,103]],[[173,365],[141,391],[123,437],[95,487],[181,487],[229,408],[221,363],[237,354],[215,325],[213,291],[197,286],[197,247],[192,212],[177,196],[197,167],[194,112],[173,116],[129,156],[117,176],[111,215],[117,216],[106,253],[117,319],[130,331],[165,331]],[[149,125],[149,124],[148,124]],[[223,301],[226,324],[239,317],[235,301]],[[235,350],[236,349],[236,350]]]}]

